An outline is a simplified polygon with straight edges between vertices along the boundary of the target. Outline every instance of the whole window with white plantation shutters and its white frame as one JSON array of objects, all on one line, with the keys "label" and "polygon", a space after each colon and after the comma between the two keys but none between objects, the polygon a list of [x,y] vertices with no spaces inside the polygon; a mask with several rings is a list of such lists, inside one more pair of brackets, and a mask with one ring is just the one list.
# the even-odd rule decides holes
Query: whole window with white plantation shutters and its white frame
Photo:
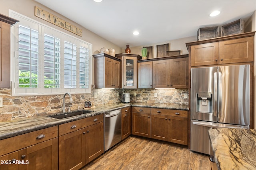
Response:
[{"label": "whole window with white plantation shutters and its white frame", "polygon": [[11,12],[12,95],[90,93],[92,45]]}]

